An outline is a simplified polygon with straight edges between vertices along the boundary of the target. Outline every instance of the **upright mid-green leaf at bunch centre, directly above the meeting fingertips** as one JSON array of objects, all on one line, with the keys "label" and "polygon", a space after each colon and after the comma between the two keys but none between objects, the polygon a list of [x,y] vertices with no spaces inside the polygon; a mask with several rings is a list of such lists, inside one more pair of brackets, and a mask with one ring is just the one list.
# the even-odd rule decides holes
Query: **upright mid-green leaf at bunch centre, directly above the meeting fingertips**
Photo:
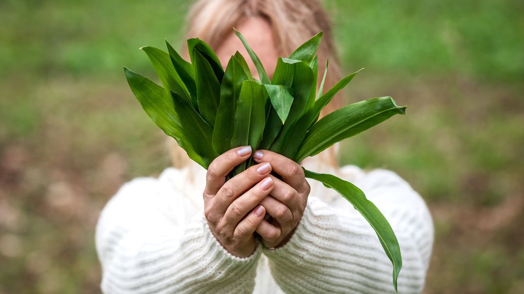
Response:
[{"label": "upright mid-green leaf at bunch centre, directly above the meeting fingertips", "polygon": [[[264,86],[255,81],[245,80],[236,104],[235,131],[231,139],[231,148],[249,145],[252,150],[257,149],[266,123],[265,104]],[[238,174],[245,168],[246,162],[244,161],[234,169],[234,173]]]}]

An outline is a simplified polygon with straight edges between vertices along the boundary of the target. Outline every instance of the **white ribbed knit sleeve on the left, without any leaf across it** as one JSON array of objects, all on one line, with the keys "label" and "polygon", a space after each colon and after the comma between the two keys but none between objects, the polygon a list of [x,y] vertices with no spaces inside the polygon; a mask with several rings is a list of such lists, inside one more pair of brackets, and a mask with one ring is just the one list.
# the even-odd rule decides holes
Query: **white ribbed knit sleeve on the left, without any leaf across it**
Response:
[{"label": "white ribbed knit sleeve on the left, without any leaf across it", "polygon": [[228,253],[202,211],[185,221],[183,211],[191,209],[184,209],[184,197],[158,185],[134,180],[103,209],[96,228],[102,291],[251,293],[260,246],[246,258]]}]

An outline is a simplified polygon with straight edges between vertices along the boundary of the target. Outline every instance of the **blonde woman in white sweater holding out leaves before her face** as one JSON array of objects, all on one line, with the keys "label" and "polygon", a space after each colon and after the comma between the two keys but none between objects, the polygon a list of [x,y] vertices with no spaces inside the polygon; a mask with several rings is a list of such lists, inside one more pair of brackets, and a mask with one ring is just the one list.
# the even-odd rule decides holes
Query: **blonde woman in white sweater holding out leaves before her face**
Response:
[{"label": "blonde woman in white sweater holding out leaves before her face", "polygon": [[[236,50],[247,56],[236,27],[269,76],[278,56],[323,30],[319,64],[329,55],[327,86],[340,77],[329,21],[316,0],[203,0],[191,11],[188,37],[208,42],[226,64]],[[340,103],[336,98],[328,111]],[[239,147],[206,172],[179,149],[173,152],[179,169],[125,184],[102,211],[96,248],[104,292],[395,292],[391,263],[373,229],[335,191],[308,183],[298,164]],[[420,293],[433,244],[427,206],[395,173],[337,168],[335,153],[332,148],[301,164],[353,182],[378,206],[402,251],[399,292]],[[225,182],[251,155],[258,164]]]}]

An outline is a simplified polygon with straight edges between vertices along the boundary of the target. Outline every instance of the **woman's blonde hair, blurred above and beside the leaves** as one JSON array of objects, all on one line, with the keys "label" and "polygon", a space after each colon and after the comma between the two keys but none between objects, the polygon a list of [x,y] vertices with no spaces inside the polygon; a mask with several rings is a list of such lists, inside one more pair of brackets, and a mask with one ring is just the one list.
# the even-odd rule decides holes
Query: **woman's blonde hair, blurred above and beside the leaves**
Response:
[{"label": "woman's blonde hair, blurred above and beside the leaves", "polygon": [[[340,80],[340,64],[331,22],[318,0],[200,0],[190,9],[186,39],[198,37],[216,51],[222,41],[232,33],[233,27],[252,16],[263,17],[269,21],[277,52],[284,57],[289,56],[294,49],[316,33],[323,31],[322,42],[317,52],[319,84],[324,74],[326,57],[329,57],[329,68],[324,91]],[[337,95],[321,115],[328,114],[342,105],[342,98]],[[187,155],[185,152],[180,154],[177,149],[181,150],[178,147],[171,152],[173,163],[176,166],[185,166],[188,161]],[[334,148],[330,148],[328,154],[327,159],[336,166]]]}]

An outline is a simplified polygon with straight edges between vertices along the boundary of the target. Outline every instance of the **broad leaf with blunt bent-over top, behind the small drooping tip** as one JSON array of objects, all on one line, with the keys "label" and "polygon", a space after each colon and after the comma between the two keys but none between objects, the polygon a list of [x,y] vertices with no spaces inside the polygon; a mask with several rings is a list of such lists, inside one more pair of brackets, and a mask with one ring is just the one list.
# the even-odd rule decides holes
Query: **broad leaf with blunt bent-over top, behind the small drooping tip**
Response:
[{"label": "broad leaf with blunt bent-over top, behind the small drooping tip", "polygon": [[290,87],[293,90],[293,104],[280,133],[271,144],[271,151],[280,153],[290,135],[289,132],[292,131],[291,126],[308,110],[311,104],[310,93],[316,88],[313,82],[313,70],[309,64],[289,58],[279,58],[272,84]]}]

